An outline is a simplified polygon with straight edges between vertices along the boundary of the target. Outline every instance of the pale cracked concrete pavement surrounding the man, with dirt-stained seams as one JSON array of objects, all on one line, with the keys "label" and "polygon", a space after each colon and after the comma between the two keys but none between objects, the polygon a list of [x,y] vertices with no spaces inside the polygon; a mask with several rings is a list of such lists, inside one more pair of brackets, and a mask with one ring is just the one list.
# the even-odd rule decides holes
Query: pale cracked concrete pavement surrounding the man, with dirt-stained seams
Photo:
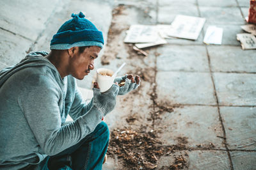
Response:
[{"label": "pale cracked concrete pavement surrounding the man, with dirt-stained seams", "polygon": [[[120,75],[138,73],[142,78],[140,88],[118,97],[115,110],[106,116],[111,132],[122,128],[140,132],[144,125],[145,133],[154,132],[161,147],[184,144],[172,154],[157,156],[156,169],[170,169],[180,155],[188,165],[185,169],[255,169],[256,52],[241,50],[236,40],[236,34],[243,33],[240,26],[246,24],[247,0],[0,4],[1,68],[17,63],[28,51],[49,51],[52,35],[70,13],[86,13],[106,42],[108,38],[100,56],[108,58],[109,65],[103,66],[115,70],[125,61]],[[178,14],[206,18],[198,40],[170,39],[166,45],[146,49],[147,57],[123,43],[131,24],[171,24]],[[203,43],[210,25],[223,27],[222,45]],[[102,66],[100,59],[95,66]],[[92,72],[79,86],[92,88],[94,78]],[[118,155],[109,155],[104,164],[104,169],[129,168]]]}]

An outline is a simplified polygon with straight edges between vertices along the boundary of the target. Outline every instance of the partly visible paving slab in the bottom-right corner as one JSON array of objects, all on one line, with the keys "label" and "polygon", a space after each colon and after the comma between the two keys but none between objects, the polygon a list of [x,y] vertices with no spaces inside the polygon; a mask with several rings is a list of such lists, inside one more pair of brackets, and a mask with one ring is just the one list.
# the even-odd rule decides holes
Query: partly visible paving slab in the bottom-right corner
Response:
[{"label": "partly visible paving slab in the bottom-right corner", "polygon": [[230,151],[234,170],[252,170],[256,167],[256,151]]}]

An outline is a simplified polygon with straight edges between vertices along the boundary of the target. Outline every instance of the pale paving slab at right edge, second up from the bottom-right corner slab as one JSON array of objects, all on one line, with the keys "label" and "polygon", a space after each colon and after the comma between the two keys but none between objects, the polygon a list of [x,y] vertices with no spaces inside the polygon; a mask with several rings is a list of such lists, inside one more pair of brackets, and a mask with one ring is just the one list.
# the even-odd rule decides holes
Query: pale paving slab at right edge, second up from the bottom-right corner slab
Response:
[{"label": "pale paving slab at right edge, second up from the bottom-right corner slab", "polygon": [[250,73],[214,73],[220,105],[255,105],[256,75]]}]

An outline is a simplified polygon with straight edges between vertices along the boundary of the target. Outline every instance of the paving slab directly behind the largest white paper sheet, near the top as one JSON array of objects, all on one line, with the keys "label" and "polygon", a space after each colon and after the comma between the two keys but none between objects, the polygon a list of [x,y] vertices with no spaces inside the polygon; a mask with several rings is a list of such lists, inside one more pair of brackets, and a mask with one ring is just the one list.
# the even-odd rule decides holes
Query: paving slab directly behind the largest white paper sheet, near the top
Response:
[{"label": "paving slab directly behind the largest white paper sheet, near the top", "polygon": [[159,6],[157,23],[171,24],[176,15],[199,17],[196,5],[184,4],[180,6],[173,6],[172,3],[170,3],[170,5]]}]

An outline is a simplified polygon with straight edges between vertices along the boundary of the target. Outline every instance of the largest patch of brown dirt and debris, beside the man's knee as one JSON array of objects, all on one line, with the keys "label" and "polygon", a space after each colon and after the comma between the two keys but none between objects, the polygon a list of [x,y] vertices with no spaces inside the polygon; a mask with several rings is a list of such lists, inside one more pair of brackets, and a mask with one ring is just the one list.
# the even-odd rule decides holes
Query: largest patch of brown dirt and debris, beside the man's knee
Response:
[{"label": "largest patch of brown dirt and debris, beside the man's knee", "polygon": [[115,129],[111,132],[108,155],[117,155],[125,167],[129,169],[154,169],[157,157],[163,155],[159,148],[154,131],[146,132],[147,127],[140,130],[131,128]]}]

